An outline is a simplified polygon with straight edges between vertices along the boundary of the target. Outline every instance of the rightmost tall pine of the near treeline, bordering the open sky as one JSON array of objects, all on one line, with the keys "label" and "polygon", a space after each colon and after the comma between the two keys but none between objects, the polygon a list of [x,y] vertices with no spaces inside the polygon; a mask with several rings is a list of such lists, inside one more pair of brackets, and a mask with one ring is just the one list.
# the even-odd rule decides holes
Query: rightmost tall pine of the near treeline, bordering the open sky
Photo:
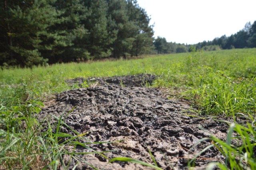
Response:
[{"label": "rightmost tall pine of the near treeline, bordering the open sky", "polygon": [[112,44],[113,56],[140,55],[153,48],[153,30],[144,9],[136,0],[108,0],[108,13],[114,20],[117,38]]}]

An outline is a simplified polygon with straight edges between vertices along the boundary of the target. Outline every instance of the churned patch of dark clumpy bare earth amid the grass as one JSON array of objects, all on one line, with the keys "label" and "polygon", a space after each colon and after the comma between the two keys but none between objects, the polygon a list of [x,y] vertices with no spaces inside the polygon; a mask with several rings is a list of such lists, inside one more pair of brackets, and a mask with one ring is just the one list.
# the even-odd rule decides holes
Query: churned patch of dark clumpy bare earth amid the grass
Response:
[{"label": "churned patch of dark clumpy bare earth amid the grass", "polygon": [[[38,119],[42,120],[47,115],[60,117],[65,113],[64,122],[68,126],[79,133],[88,132],[86,139],[80,142],[112,142],[87,145],[98,152],[115,150],[104,153],[109,159],[129,157],[154,164],[149,149],[160,168],[187,169],[188,161],[211,144],[211,141],[198,143],[198,140],[210,135],[225,139],[228,125],[214,117],[192,117],[188,102],[167,99],[161,89],[145,87],[152,84],[155,78],[154,75],[143,74],[67,80],[66,83],[71,86],[82,86],[86,81],[90,87],[56,95],[55,99],[46,102]],[[53,117],[50,120],[56,122]],[[64,125],[61,130],[75,135]],[[92,152],[82,146],[69,146],[66,149],[70,152]],[[104,170],[150,169],[130,162],[108,163],[100,154],[76,156],[87,162],[78,164],[76,169],[79,170],[92,169],[88,164]],[[214,147],[200,156],[194,161],[196,169],[205,169],[208,162],[224,161]],[[63,158],[70,169],[78,162],[69,155]]]}]

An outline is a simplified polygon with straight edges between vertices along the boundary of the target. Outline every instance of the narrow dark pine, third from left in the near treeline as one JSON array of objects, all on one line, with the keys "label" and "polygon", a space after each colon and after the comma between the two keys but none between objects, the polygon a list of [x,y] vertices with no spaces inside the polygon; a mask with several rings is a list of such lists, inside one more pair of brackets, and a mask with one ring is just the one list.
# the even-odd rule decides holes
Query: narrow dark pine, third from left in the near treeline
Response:
[{"label": "narrow dark pine, third from left in the near treeline", "polygon": [[110,44],[116,39],[116,31],[110,29],[111,18],[108,17],[108,3],[106,0],[85,0],[90,16],[84,22],[89,30],[89,39],[86,48],[95,58],[104,58],[111,55]]}]

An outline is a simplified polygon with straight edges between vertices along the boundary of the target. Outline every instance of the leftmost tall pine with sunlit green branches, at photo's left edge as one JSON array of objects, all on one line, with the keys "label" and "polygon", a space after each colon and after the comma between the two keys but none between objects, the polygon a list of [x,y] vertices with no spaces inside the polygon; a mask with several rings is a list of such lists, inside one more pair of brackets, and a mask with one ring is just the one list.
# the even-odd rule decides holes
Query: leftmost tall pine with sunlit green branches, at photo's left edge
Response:
[{"label": "leftmost tall pine with sunlit green branches, at photo's left edge", "polygon": [[48,36],[48,28],[58,15],[49,0],[4,1],[1,6],[1,64],[31,67],[46,63],[40,49],[51,44],[44,43],[42,36]]}]

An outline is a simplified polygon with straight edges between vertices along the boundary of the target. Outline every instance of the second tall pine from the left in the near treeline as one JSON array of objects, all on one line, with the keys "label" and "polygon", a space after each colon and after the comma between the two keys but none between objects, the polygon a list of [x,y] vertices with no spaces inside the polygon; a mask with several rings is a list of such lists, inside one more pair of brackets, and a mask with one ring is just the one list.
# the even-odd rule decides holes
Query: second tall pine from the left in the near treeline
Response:
[{"label": "second tall pine from the left in the near treeline", "polygon": [[85,44],[90,33],[83,24],[90,15],[88,8],[82,0],[56,0],[53,6],[60,15],[50,27],[54,46],[50,51],[44,51],[49,63],[88,59],[90,53]]}]

